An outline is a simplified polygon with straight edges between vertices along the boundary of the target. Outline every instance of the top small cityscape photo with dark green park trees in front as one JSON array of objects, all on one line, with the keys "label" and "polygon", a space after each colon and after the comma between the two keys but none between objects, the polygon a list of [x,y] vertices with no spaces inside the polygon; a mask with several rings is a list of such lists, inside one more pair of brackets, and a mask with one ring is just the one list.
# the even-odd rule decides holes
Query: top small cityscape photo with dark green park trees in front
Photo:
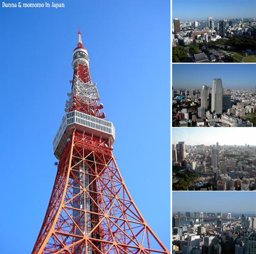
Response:
[{"label": "top small cityscape photo with dark green park trees in front", "polygon": [[173,0],[173,63],[255,63],[254,0]]}]

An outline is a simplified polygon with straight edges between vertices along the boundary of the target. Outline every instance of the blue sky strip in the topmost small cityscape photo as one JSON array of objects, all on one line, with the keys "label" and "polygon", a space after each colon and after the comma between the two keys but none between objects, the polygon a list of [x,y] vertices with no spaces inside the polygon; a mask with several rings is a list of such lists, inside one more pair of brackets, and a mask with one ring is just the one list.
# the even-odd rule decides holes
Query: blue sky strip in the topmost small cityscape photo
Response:
[{"label": "blue sky strip in the topmost small cityscape photo", "polygon": [[214,19],[235,19],[241,17],[255,17],[255,0],[172,0],[172,19],[181,21]]}]

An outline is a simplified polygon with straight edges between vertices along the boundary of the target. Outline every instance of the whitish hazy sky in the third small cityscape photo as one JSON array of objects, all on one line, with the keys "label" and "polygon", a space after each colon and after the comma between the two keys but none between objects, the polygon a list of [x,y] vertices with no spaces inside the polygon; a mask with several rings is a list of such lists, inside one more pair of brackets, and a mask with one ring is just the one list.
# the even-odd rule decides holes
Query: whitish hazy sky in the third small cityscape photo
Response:
[{"label": "whitish hazy sky in the third small cityscape photo", "polygon": [[172,144],[186,145],[256,145],[255,128],[173,128]]}]

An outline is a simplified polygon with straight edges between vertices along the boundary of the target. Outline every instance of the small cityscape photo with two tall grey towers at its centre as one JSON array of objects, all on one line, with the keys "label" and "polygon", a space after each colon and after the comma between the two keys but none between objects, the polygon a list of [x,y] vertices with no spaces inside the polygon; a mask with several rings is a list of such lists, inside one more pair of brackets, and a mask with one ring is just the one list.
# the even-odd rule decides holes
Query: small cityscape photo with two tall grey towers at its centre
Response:
[{"label": "small cityscape photo with two tall grey towers at its centre", "polygon": [[256,65],[175,64],[172,70],[173,127],[256,126]]}]

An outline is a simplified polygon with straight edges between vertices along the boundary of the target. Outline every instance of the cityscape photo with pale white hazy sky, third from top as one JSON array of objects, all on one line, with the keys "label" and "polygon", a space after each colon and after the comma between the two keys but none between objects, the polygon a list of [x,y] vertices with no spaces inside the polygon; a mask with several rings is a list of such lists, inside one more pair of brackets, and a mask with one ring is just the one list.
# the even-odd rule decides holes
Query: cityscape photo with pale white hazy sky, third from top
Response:
[{"label": "cityscape photo with pale white hazy sky, third from top", "polygon": [[173,190],[256,190],[254,128],[173,128]]}]

